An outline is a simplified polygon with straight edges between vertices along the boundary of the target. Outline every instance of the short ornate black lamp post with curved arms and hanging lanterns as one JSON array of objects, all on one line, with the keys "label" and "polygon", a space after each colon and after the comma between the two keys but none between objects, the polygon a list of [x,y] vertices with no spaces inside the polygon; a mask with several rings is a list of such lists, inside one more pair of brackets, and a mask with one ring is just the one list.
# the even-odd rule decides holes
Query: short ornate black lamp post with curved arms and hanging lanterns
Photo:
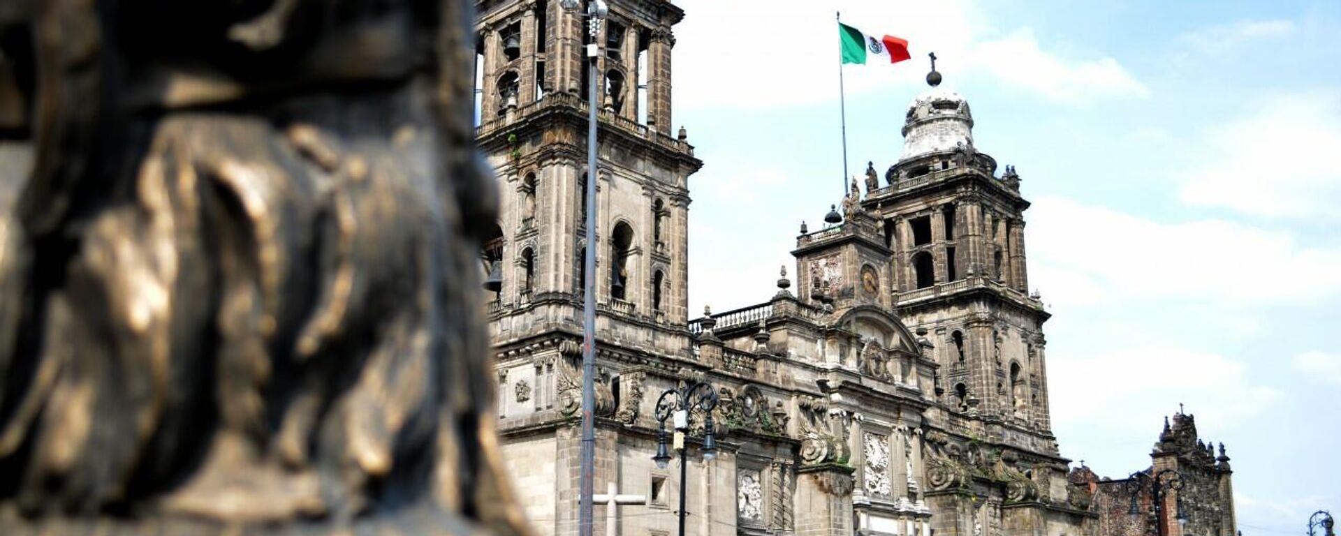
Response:
[{"label": "short ornate black lamp post with curved arms and hanging lanterns", "polygon": [[680,389],[668,389],[657,398],[657,456],[652,460],[657,468],[665,469],[670,464],[670,452],[666,449],[666,419],[675,417],[673,448],[680,450],[680,536],[684,536],[684,490],[688,476],[687,458],[688,446],[684,436],[689,431],[689,417],[693,410],[703,410],[703,461],[712,461],[717,457],[717,442],[713,438],[712,410],[717,407],[717,390],[704,382],[685,383]]}]

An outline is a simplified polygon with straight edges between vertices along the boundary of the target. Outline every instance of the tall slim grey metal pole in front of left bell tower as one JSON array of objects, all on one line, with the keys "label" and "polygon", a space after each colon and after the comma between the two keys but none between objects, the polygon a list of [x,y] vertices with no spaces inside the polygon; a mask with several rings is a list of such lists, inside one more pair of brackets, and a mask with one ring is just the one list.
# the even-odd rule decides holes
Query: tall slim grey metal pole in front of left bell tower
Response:
[{"label": "tall slim grey metal pole in front of left bell tower", "polygon": [[[578,8],[578,0],[561,0],[565,11],[573,12]],[[587,0],[587,35],[591,38],[586,46],[587,60],[591,62],[591,76],[587,100],[587,181],[586,181],[586,255],[582,260],[586,267],[586,284],[582,293],[582,449],[579,452],[578,476],[578,536],[591,536],[591,493],[593,468],[595,465],[595,386],[591,383],[595,377],[595,129],[597,129],[597,87],[601,80],[601,70],[597,68],[597,59],[601,51],[601,20],[609,13],[603,0]]]}]

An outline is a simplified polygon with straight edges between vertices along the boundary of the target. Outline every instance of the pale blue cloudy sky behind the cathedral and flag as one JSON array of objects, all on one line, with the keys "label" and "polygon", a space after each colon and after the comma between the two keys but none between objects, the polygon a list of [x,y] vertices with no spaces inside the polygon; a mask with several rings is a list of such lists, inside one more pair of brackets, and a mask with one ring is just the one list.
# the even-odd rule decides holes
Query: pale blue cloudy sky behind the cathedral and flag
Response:
[{"label": "pale blue cloudy sky behind the cathedral and flag", "polygon": [[692,310],[766,300],[838,202],[838,7],[913,52],[846,67],[850,174],[897,161],[935,51],[1023,178],[1063,456],[1145,468],[1181,402],[1228,448],[1244,535],[1341,511],[1341,3],[677,4]]}]

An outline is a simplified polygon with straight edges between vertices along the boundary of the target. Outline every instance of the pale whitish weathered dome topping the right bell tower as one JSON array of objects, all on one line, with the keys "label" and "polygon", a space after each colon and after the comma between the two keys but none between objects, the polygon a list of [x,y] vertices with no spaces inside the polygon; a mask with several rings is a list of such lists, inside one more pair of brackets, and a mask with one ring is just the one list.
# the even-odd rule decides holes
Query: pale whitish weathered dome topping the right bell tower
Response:
[{"label": "pale whitish weathered dome topping the right bell tower", "polygon": [[974,115],[960,94],[932,87],[908,105],[900,161],[974,145]]}]

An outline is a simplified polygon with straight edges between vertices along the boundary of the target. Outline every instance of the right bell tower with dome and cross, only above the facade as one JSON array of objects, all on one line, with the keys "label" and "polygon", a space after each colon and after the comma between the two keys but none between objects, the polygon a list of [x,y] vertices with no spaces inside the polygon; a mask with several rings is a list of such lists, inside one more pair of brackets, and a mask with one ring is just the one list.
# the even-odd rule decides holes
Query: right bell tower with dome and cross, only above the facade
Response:
[{"label": "right bell tower with dome and cross, only above the facade", "polygon": [[[911,326],[927,328],[941,364],[941,401],[951,415],[1003,426],[1019,446],[1053,446],[1042,324],[1049,314],[1029,293],[1025,217],[1012,166],[974,143],[963,96],[929,90],[904,118],[904,147],[886,185],[864,205],[880,214],[893,252],[893,299]],[[1031,445],[1035,445],[1031,448]]]}]

